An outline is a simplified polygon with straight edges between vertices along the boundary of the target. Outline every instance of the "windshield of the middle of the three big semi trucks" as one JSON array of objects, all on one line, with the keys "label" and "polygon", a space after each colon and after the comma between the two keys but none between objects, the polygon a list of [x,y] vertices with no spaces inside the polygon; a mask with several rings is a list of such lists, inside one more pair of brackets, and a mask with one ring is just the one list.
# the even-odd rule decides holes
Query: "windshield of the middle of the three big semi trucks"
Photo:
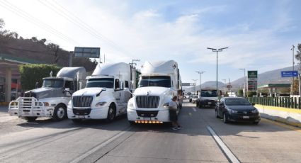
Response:
[{"label": "windshield of the middle of the three big semi trucks", "polygon": [[114,79],[113,78],[98,78],[98,79],[88,79],[86,83],[86,88],[91,87],[101,87],[101,88],[114,88]]}]

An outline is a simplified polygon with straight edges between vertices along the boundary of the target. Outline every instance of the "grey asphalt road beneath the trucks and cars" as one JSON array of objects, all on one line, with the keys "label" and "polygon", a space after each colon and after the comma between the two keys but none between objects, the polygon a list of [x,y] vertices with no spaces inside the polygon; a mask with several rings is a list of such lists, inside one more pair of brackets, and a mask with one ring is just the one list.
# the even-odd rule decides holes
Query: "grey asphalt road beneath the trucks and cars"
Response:
[{"label": "grey asphalt road beneath the trucks and cars", "polygon": [[[184,103],[181,130],[129,125],[126,117],[74,124],[7,118],[0,108],[0,162],[300,162],[301,130],[270,120],[224,124],[213,108]],[[7,118],[7,119],[5,119]]]}]

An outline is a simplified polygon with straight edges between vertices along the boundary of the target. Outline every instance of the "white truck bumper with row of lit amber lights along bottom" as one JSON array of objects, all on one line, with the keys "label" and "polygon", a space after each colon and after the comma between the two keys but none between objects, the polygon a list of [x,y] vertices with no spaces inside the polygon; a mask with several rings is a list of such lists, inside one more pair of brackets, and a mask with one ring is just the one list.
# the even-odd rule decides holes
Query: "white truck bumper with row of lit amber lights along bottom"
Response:
[{"label": "white truck bumper with row of lit amber lights along bottom", "polygon": [[133,121],[136,123],[164,123],[170,122],[169,120],[169,110],[134,110],[127,108],[127,120]]}]

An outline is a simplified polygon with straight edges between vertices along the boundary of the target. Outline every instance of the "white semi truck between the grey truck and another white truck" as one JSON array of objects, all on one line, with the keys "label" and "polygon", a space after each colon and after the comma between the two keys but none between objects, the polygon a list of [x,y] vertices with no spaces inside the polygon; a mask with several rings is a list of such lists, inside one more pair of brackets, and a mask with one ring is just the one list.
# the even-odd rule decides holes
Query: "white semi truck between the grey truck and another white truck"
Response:
[{"label": "white semi truck between the grey truck and another white truck", "polygon": [[[68,103],[68,118],[74,123],[84,119],[106,119],[126,114],[127,101],[135,85],[135,73],[129,64],[98,64],[93,74],[87,77],[86,88],[74,92]],[[132,71],[135,72],[135,71]]]}]

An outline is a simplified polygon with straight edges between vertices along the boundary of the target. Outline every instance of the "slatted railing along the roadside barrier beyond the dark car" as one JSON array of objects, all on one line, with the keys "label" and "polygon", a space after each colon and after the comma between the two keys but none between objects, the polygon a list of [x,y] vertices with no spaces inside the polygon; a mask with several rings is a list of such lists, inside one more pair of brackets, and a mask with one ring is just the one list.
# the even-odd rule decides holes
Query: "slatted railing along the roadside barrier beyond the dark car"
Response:
[{"label": "slatted railing along the roadside barrier beyond the dark car", "polygon": [[301,109],[300,97],[246,97],[250,103],[263,106],[278,106],[283,108]]}]

